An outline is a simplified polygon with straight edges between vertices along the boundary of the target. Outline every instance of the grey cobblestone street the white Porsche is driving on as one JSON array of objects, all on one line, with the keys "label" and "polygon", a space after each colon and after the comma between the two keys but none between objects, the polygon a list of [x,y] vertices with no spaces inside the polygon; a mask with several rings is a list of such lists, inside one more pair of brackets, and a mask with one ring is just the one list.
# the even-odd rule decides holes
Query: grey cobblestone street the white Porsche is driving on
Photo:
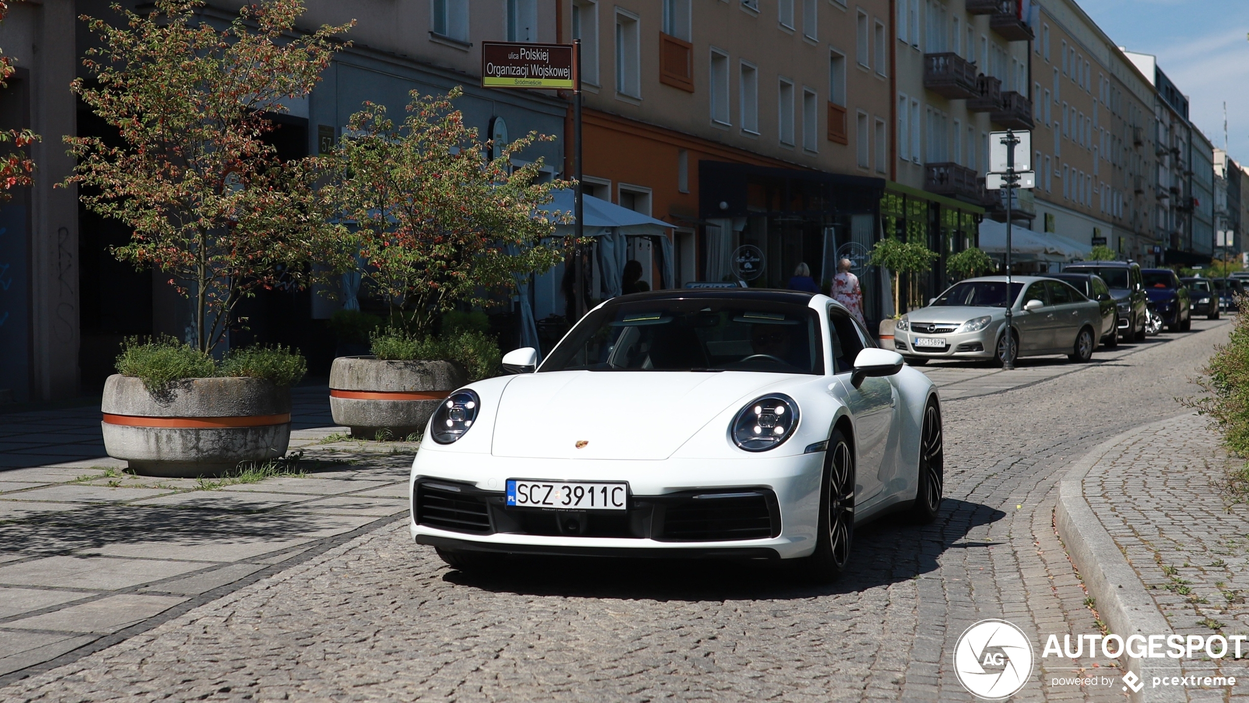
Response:
[{"label": "grey cobblestone street the white Porsche is driving on", "polygon": [[[1182,412],[1228,330],[1197,321],[1022,387],[989,387],[997,375],[950,393],[940,518],[858,531],[833,587],[781,567],[532,558],[473,578],[398,521],[0,699],[969,701],[949,662],[972,623],[1005,618],[1034,643],[1097,632],[1053,528],[1057,481],[1100,441]],[[1038,661],[1017,699],[1122,699],[1049,687],[1078,669]]]}]

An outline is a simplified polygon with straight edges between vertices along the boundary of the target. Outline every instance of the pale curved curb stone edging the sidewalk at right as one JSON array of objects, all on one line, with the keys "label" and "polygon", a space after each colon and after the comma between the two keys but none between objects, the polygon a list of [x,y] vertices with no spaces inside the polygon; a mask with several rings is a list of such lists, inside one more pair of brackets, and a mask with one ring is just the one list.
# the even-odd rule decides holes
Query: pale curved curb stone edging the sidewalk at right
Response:
[{"label": "pale curved curb stone edging the sidewalk at right", "polygon": [[[1113,453],[1124,442],[1189,415],[1192,413],[1185,412],[1142,425],[1102,442],[1075,462],[1058,483],[1058,502],[1054,507],[1058,536],[1063,539],[1075,568],[1079,569],[1089,596],[1097,599],[1098,613],[1105,621],[1107,628],[1124,638],[1138,633],[1173,634],[1173,631],[1153,597],[1145,591],[1145,584],[1135,569],[1128,564],[1128,559],[1110,538],[1110,533],[1084,499],[1084,477],[1102,461],[1102,457]],[[1143,682],[1148,682],[1160,667],[1150,659],[1128,657],[1127,668]],[[1168,672],[1170,673],[1174,672]],[[1188,696],[1180,688],[1147,686],[1134,694],[1133,699],[1162,703],[1188,701]]]}]

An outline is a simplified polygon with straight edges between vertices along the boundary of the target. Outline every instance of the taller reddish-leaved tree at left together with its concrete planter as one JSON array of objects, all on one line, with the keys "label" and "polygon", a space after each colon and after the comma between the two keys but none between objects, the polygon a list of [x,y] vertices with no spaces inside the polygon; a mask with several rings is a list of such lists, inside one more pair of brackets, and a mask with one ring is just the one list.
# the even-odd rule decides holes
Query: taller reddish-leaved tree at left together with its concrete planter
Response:
[{"label": "taller reddish-leaved tree at left together with its concrete planter", "polygon": [[[112,250],[119,260],[154,270],[192,300],[194,332],[186,341],[206,356],[225,341],[240,300],[261,288],[306,285],[310,261],[323,263],[317,271],[326,275],[346,267],[340,227],[331,224],[332,209],[316,185],[325,160],[282,160],[266,136],[277,129],[269,115],[309,94],[330,64],[331,36],[350,25],[299,35],[302,4],[267,0],[245,5],[232,22],[216,27],[196,14],[202,5],[157,0],[147,14],[119,9],[125,22],[116,26],[82,17],[100,44],[84,61],[91,80],[76,79],[71,87],[120,141],[66,136],[65,142],[77,161],[66,185],[84,189],[80,199],[89,210],[130,227],[130,241]],[[169,361],[170,372],[205,363],[167,343],[134,353]],[[110,417],[130,420],[106,427],[106,447],[145,471],[210,471],[226,466],[224,455],[214,455],[202,437],[185,438],[204,432],[161,440],[166,443],[152,446],[159,452],[146,458],[110,437],[136,427],[166,437],[155,430],[224,423],[231,431],[250,427],[254,437],[267,437],[269,451],[285,451],[290,400],[274,380],[251,375],[272,361],[266,358],[231,355],[226,363],[247,373],[239,378],[214,372],[151,386],[140,376],[110,377],[105,425]],[[170,425],[170,418],[194,423]]]}]

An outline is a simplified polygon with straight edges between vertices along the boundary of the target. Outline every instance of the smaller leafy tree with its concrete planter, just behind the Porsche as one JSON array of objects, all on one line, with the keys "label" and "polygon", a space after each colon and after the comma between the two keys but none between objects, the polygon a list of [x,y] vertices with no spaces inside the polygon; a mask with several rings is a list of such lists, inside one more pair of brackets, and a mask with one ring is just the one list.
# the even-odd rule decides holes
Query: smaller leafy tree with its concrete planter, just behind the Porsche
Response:
[{"label": "smaller leafy tree with its concrete planter, just behind the Porsche", "polygon": [[465,331],[480,326],[480,316],[457,311],[488,307],[516,276],[562,258],[562,242],[553,241],[557,220],[538,206],[570,184],[541,182],[541,159],[512,162],[553,137],[483,144],[452,106],[460,95],[413,91],[397,126],[383,106],[365,102],[333,156],[342,172],[337,202],[356,226],[352,253],[363,262],[363,285],[390,307],[387,331],[371,338],[373,356],[336,358],[330,371],[335,422],[357,437],[423,431],[441,398],[493,373],[497,346]]}]

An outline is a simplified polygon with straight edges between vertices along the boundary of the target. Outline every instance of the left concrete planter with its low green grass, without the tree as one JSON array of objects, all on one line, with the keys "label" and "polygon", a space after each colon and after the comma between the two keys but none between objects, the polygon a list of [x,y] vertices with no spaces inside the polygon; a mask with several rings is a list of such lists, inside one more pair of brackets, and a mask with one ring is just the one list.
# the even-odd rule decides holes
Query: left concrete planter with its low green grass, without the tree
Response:
[{"label": "left concrete planter with its low green grass, without the tree", "polygon": [[105,448],[146,476],[220,476],[281,457],[290,388],[306,371],[282,347],[232,350],[219,363],[172,337],[127,340],[105,381]]}]

